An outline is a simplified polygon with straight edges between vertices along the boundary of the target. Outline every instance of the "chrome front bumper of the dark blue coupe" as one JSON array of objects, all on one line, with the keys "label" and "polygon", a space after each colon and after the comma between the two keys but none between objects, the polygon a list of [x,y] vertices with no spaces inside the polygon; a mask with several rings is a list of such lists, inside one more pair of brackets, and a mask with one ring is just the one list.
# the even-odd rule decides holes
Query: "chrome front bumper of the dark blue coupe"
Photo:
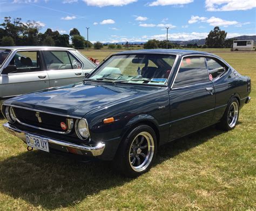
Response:
[{"label": "chrome front bumper of the dark blue coupe", "polygon": [[38,135],[32,134],[30,132],[22,131],[22,130],[15,128],[15,126],[11,126],[9,123],[4,123],[3,128],[7,132],[9,132],[11,135],[17,136],[18,138],[22,139],[23,142],[25,142],[25,143],[26,143],[26,135],[39,137],[39,138],[46,138],[46,139],[48,139],[50,149],[52,147],[53,149],[60,149],[64,152],[69,152],[69,150],[67,148],[67,147],[69,147],[72,149],[80,150],[82,152],[82,154],[84,154],[86,156],[100,156],[105,149],[104,143],[98,143],[96,146],[73,144],[70,142],[56,140],[56,139],[52,139],[52,138],[44,137],[44,136],[38,136]]}]

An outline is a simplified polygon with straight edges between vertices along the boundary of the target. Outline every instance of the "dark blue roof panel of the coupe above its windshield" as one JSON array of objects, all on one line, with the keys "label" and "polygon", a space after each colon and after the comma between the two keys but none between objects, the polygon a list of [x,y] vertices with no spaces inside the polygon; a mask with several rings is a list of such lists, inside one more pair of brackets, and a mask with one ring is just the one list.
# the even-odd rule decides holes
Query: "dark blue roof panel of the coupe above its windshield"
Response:
[{"label": "dark blue roof panel of the coupe above its windshield", "polygon": [[[173,55],[191,55],[191,54],[200,54],[200,55],[214,55],[208,52],[202,51],[192,51],[192,50],[179,50],[179,49],[152,49],[152,50],[137,50],[137,51],[123,51],[116,53],[114,55],[121,55],[121,54],[173,54]],[[214,55],[216,56],[216,55]]]}]

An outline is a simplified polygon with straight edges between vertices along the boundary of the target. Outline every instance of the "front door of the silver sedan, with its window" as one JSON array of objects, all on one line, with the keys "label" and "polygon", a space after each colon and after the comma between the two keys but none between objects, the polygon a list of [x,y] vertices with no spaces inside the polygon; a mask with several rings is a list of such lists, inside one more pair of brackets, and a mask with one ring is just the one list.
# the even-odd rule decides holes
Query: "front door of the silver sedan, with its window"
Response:
[{"label": "front door of the silver sedan, with its window", "polygon": [[12,65],[14,71],[1,74],[2,100],[50,87],[49,76],[42,68],[39,51],[17,51],[8,65]]}]

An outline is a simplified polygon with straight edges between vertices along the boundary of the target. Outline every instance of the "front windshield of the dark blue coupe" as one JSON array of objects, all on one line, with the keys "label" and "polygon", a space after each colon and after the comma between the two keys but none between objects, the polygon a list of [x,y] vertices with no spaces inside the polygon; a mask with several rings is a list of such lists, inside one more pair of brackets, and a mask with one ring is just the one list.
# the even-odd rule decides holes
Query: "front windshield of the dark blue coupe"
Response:
[{"label": "front windshield of the dark blue coupe", "polygon": [[175,58],[159,54],[114,55],[87,80],[163,85]]}]

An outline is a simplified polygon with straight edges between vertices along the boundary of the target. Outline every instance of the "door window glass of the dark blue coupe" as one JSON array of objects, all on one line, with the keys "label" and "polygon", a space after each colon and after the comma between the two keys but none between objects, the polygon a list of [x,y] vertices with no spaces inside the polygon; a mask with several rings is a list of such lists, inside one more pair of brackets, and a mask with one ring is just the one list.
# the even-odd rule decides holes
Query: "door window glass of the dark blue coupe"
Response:
[{"label": "door window glass of the dark blue coupe", "polygon": [[173,87],[196,85],[209,81],[204,57],[186,57],[181,61]]}]

